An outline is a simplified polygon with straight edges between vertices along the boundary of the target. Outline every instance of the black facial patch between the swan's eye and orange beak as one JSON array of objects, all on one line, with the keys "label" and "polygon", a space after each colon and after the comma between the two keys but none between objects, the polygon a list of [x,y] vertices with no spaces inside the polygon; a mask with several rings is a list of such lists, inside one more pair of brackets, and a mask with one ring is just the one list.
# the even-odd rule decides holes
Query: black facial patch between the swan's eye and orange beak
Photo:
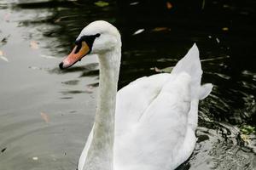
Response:
[{"label": "black facial patch between the swan's eye and orange beak", "polygon": [[[97,33],[95,35],[90,35],[90,36],[82,36],[78,40],[76,40],[75,44],[77,45],[77,48],[75,50],[75,54],[79,53],[79,50],[82,48],[82,42],[86,42],[88,47],[92,48],[93,42],[95,41],[96,37],[100,37],[101,34]],[[90,53],[90,52],[89,52]]]}]

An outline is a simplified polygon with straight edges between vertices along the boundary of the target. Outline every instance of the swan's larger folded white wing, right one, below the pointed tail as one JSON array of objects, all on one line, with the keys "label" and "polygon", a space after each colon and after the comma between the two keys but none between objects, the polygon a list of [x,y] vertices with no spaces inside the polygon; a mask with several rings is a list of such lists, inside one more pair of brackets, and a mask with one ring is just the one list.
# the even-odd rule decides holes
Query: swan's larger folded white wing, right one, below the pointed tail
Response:
[{"label": "swan's larger folded white wing, right one, below the pointed tail", "polygon": [[115,166],[131,170],[167,170],[177,167],[191,155],[195,132],[188,124],[192,104],[190,80],[186,73],[168,77],[146,110],[137,116],[137,122],[116,136]]}]

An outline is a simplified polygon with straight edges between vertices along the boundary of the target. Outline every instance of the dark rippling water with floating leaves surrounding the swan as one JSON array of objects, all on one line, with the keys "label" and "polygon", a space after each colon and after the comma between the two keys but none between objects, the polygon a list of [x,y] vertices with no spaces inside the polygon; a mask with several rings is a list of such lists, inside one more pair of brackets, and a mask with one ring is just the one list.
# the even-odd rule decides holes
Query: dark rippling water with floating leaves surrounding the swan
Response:
[{"label": "dark rippling water with floating leaves surrounding the swan", "polygon": [[93,20],[121,32],[119,88],[175,65],[196,42],[202,82],[214,88],[178,169],[256,169],[256,2],[106,2],[0,1],[0,169],[75,169],[96,110],[96,56],[57,65]]}]

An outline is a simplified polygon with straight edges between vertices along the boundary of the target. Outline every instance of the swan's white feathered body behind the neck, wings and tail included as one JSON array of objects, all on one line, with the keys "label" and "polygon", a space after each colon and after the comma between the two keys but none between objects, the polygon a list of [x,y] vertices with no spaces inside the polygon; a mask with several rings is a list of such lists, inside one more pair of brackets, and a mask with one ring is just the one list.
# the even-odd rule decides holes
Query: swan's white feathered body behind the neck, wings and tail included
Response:
[{"label": "swan's white feathered body behind the neck, wings and tail included", "polygon": [[201,63],[194,45],[171,74],[143,77],[117,95],[114,169],[170,170],[195,147],[198,100],[212,89],[201,87]]}]

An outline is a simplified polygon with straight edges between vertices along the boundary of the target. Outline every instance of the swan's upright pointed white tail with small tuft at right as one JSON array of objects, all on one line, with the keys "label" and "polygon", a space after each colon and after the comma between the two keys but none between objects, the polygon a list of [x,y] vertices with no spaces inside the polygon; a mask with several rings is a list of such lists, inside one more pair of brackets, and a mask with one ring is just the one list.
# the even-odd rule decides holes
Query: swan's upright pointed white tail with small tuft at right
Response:
[{"label": "swan's upright pointed white tail with small tuft at right", "polygon": [[189,49],[183,59],[177,62],[177,65],[172,70],[172,74],[186,72],[191,77],[191,95],[194,98],[204,99],[212,91],[212,84],[208,83],[201,86],[201,61],[199,58],[199,50],[196,44]]}]

